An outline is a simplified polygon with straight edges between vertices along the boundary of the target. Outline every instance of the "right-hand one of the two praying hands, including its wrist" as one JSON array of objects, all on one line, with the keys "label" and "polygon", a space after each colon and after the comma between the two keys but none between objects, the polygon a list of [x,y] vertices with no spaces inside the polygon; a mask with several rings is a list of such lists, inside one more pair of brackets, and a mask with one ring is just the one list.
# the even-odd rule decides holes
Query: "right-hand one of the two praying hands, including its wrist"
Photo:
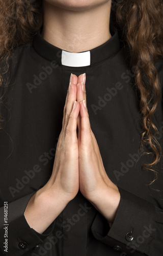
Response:
[{"label": "right-hand one of the two praying hands, including its wrist", "polygon": [[86,105],[86,74],[79,75],[76,85],[76,100],[80,111],[78,127],[79,189],[109,221],[113,222],[120,201],[117,186],[108,178],[96,138],[91,130]]}]

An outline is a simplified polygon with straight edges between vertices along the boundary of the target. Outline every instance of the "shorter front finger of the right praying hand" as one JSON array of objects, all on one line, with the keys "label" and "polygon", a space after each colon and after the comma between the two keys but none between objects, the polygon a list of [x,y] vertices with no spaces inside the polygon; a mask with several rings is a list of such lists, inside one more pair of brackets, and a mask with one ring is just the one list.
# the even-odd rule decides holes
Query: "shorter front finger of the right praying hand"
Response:
[{"label": "shorter front finger of the right praying hand", "polygon": [[80,132],[79,132],[79,138],[80,143],[83,145],[91,145],[92,144],[92,135],[91,135],[91,125],[90,125],[90,119],[89,114],[87,110],[87,106],[84,105],[85,100],[80,101]]}]

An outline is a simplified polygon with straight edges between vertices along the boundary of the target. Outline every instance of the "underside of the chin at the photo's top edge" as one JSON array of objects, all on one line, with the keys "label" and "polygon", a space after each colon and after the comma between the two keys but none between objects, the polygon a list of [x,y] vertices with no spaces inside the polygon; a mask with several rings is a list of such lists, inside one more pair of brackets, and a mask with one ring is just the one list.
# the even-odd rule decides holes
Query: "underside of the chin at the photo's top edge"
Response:
[{"label": "underside of the chin at the photo's top edge", "polygon": [[111,0],[43,0],[43,2],[67,10],[82,11],[111,2]]}]

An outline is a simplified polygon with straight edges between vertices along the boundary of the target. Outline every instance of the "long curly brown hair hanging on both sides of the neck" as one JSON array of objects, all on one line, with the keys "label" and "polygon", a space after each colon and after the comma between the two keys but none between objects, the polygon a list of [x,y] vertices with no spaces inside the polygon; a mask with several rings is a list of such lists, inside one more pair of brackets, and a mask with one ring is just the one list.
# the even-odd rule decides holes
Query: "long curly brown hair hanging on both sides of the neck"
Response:
[{"label": "long curly brown hair hanging on both sides of the neck", "polygon": [[[0,73],[0,86],[4,85],[3,75],[8,71],[8,59],[12,50],[32,42],[43,24],[41,0],[0,0],[0,56],[4,68]],[[161,157],[161,146],[157,140],[158,130],[152,121],[161,89],[156,59],[163,58],[163,3],[162,0],[112,0],[111,24],[120,32],[121,42],[134,72],[134,83],[139,92],[142,114],[141,150],[152,154],[153,162],[143,165],[155,173],[154,166]],[[126,58],[126,61],[127,61]],[[152,152],[144,152],[143,145],[149,145]]]}]

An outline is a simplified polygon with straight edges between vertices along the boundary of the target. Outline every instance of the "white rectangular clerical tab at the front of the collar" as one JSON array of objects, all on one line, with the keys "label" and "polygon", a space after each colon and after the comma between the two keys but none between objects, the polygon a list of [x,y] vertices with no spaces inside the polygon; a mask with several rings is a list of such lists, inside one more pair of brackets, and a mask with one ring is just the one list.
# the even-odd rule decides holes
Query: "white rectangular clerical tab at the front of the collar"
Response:
[{"label": "white rectangular clerical tab at the front of the collar", "polygon": [[61,63],[69,67],[85,67],[91,64],[91,53],[87,52],[66,52],[62,50]]}]

